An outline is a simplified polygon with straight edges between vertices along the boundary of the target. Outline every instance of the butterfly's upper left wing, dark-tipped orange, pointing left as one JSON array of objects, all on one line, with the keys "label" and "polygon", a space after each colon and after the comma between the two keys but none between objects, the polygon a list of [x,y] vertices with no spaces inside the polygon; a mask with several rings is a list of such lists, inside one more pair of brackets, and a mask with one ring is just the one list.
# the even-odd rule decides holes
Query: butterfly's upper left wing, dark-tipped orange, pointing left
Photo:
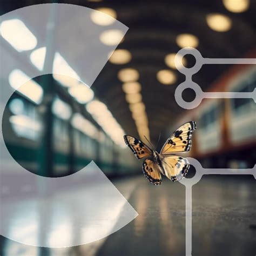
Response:
[{"label": "butterfly's upper left wing, dark-tipped orange, pointing left", "polygon": [[137,159],[142,159],[144,157],[150,157],[152,154],[152,150],[139,139],[136,139],[130,135],[124,136],[124,141],[126,145],[128,145],[136,156]]}]

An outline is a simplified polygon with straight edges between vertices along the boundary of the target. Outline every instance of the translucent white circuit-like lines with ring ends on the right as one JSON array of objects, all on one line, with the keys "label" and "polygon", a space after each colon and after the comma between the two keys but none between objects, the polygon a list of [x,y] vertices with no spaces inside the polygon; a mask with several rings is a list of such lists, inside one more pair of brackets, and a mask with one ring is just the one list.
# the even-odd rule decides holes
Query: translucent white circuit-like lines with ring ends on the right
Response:
[{"label": "translucent white circuit-like lines with ring ends on the right", "polygon": [[[196,64],[192,68],[186,68],[182,63],[182,58],[193,55]],[[201,53],[194,48],[187,47],[178,51],[175,59],[176,68],[186,77],[185,82],[179,84],[175,91],[175,99],[183,109],[194,109],[204,98],[252,98],[256,102],[256,89],[253,92],[203,92],[201,87],[193,82],[192,75],[197,73],[204,64],[256,64],[255,58],[204,58]],[[196,93],[196,98],[192,102],[186,102],[182,97],[182,92],[190,88]],[[204,169],[199,161],[188,158],[190,164],[196,169],[193,178],[185,178],[179,182],[186,187],[186,256],[192,255],[192,186],[201,179],[204,174],[251,174],[256,179],[256,167],[252,169]]]}]

